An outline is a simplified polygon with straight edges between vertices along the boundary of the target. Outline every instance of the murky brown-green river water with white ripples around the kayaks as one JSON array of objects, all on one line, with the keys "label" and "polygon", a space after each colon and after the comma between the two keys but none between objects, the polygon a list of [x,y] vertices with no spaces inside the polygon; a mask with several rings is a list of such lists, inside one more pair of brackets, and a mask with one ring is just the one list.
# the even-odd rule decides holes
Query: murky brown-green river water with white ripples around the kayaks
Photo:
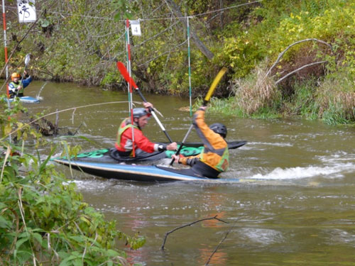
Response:
[{"label": "murky brown-green river water with white ripples around the kayaks", "polygon": [[[33,82],[26,95],[40,104],[29,111],[50,113],[89,104],[126,101],[124,92]],[[190,113],[188,99],[146,95],[163,113],[171,138],[181,141]],[[134,96],[140,101],[138,96]],[[140,106],[140,105],[137,105]],[[116,128],[128,104],[102,104],[59,114],[59,125],[83,138],[65,138],[82,150],[114,145]],[[49,116],[55,121],[55,116]],[[73,172],[58,165],[95,209],[114,219],[125,233],[145,235],[146,245],[129,250],[141,265],[355,265],[355,128],[327,126],[298,118],[257,120],[210,114],[207,123],[225,123],[227,140],[247,140],[231,150],[231,167],[222,176],[246,182],[124,182]],[[151,119],[144,133],[167,141]],[[50,138],[59,142],[60,138]],[[192,132],[188,141],[198,141]],[[43,156],[48,150],[41,150]],[[59,155],[59,153],[57,154]],[[160,162],[168,164],[169,161]],[[219,218],[222,221],[217,220]],[[165,233],[204,218],[213,218]]]}]

